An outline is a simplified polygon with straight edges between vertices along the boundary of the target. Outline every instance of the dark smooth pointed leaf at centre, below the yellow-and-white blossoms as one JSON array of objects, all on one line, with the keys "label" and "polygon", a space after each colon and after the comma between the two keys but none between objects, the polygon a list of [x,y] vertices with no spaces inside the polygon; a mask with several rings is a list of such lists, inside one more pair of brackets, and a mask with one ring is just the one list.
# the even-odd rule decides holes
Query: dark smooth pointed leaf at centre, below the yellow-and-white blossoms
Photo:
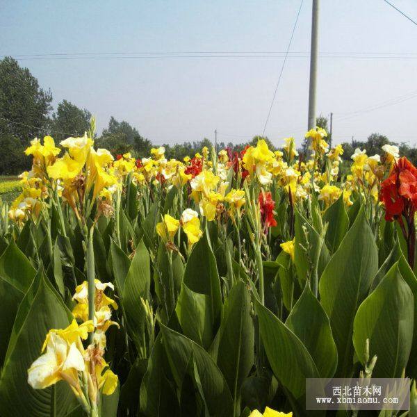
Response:
[{"label": "dark smooth pointed leaf at centre, below the yellow-and-white blossoms", "polygon": [[215,256],[208,243],[206,232],[195,244],[188,258],[183,281],[191,291],[208,295],[213,328],[217,327],[222,311],[222,294]]}]

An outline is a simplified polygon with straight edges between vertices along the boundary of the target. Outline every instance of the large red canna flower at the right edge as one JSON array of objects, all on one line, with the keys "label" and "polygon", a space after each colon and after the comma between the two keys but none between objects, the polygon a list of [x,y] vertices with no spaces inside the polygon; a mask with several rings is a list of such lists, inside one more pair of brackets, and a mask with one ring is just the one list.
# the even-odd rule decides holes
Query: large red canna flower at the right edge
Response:
[{"label": "large red canna flower at the right edge", "polygon": [[[416,227],[414,214],[417,210],[417,168],[404,156],[393,166],[390,176],[382,181],[379,200],[385,206],[385,220],[400,224],[407,241],[408,261],[414,268]],[[405,220],[405,224],[403,218]]]}]

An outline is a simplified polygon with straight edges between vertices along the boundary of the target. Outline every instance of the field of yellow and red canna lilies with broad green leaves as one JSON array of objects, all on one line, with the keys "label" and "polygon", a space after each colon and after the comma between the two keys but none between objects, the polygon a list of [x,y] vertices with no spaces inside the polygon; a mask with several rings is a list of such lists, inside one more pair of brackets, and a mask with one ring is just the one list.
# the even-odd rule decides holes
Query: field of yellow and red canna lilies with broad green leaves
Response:
[{"label": "field of yellow and red canna lilies with broad green leaves", "polygon": [[0,210],[0,414],[309,416],[306,378],[417,379],[417,170],[306,137],[32,140]]}]

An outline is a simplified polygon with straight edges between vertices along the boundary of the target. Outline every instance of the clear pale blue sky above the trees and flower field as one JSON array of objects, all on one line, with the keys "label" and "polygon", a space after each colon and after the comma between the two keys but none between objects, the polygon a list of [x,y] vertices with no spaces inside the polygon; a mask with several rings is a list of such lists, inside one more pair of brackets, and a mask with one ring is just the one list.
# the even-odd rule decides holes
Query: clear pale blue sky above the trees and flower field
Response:
[{"label": "clear pale blue sky above the trees and flower field", "polygon": [[[417,1],[391,1],[417,19]],[[250,52],[19,59],[51,89],[55,105],[67,99],[88,108],[99,130],[113,115],[156,143],[213,139],[216,128],[219,140],[242,142],[262,133],[284,59],[253,53],[285,51],[299,6],[298,0],[0,0],[0,55]],[[266,129],[276,144],[286,136],[300,142],[306,127],[310,31],[311,0],[304,0]],[[321,0],[319,44],[318,113],[334,112],[336,142],[377,131],[417,145],[417,26],[383,0]],[[413,98],[352,113],[398,97]]]}]

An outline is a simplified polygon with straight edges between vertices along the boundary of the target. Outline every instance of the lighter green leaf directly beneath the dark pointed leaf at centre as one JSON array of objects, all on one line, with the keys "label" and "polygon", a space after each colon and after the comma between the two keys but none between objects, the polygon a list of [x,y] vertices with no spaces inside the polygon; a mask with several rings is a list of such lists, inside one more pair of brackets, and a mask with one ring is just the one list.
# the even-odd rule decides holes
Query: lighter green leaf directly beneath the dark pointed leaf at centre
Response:
[{"label": "lighter green leaf directly beneath the dark pointed leaf at centre", "polygon": [[183,283],[175,311],[183,334],[207,350],[213,341],[213,318],[208,295],[195,293]]}]

